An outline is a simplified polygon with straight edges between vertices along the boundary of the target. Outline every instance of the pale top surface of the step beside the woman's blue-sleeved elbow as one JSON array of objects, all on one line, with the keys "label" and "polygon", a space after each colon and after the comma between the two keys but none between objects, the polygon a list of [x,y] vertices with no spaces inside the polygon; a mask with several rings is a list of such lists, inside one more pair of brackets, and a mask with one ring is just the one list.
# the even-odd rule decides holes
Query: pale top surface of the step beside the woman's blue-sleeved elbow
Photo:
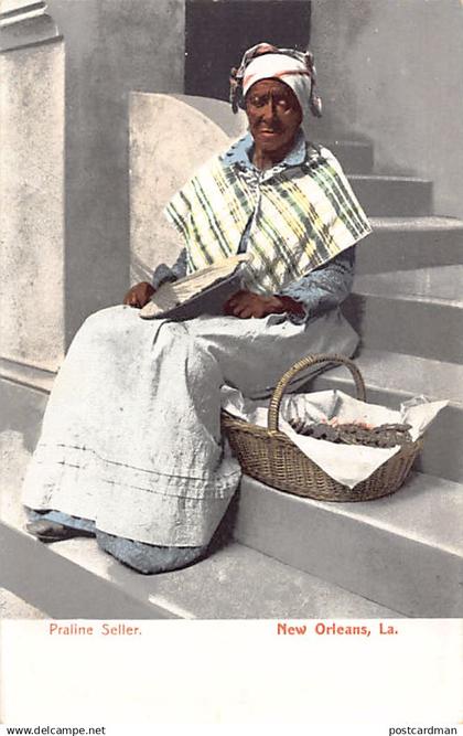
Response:
[{"label": "pale top surface of the step beside the woman's blue-sleeved elbow", "polygon": [[358,275],[353,291],[363,296],[463,307],[463,265]]}]

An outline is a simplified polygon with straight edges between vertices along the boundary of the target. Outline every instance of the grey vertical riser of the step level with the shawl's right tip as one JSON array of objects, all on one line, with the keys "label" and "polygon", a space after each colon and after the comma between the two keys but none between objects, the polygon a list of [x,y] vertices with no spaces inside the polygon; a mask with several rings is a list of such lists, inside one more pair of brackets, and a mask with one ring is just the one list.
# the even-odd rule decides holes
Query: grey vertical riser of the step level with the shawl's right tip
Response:
[{"label": "grey vertical riser of the step level with the shawl's right tip", "polygon": [[377,230],[357,247],[355,271],[379,274],[462,263],[463,230]]}]

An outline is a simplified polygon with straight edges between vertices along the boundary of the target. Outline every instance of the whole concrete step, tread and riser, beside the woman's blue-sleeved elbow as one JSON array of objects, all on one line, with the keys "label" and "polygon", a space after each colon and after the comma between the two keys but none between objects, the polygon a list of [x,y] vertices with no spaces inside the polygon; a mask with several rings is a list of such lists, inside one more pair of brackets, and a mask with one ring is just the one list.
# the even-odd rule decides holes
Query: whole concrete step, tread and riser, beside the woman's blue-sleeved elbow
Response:
[{"label": "whole concrete step, tread and riser, beside the woman's blue-sleeved elbow", "polygon": [[357,276],[343,311],[364,348],[463,362],[463,265]]}]

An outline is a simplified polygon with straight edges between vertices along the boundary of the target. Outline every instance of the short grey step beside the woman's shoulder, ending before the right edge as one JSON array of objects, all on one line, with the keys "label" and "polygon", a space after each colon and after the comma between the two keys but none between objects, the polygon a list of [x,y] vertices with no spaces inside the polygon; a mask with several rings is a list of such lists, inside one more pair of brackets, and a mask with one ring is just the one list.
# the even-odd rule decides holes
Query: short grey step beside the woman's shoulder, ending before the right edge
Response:
[{"label": "short grey step beside the woman's shoulder, ending before the right edge", "polygon": [[432,212],[432,182],[417,177],[352,174],[348,177],[367,215],[409,217]]}]

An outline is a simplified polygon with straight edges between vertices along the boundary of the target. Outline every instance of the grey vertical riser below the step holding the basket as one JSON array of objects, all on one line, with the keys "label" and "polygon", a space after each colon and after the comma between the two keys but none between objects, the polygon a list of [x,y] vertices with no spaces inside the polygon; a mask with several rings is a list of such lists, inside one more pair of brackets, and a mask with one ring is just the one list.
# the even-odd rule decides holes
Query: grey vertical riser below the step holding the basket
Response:
[{"label": "grey vertical riser below the step holding the basket", "polygon": [[235,536],[406,616],[462,615],[455,591],[463,584],[463,566],[456,555],[332,513],[250,478],[241,481]]}]

